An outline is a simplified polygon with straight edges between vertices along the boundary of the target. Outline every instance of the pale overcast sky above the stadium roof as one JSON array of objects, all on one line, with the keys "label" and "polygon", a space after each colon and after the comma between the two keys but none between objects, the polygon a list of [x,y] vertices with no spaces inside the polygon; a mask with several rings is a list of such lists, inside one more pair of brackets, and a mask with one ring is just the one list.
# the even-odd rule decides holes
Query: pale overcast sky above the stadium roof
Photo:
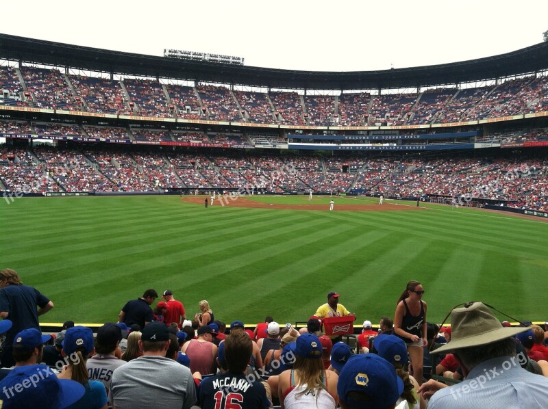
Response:
[{"label": "pale overcast sky above the stadium roof", "polygon": [[543,41],[548,1],[2,1],[0,32],[247,66],[383,70],[472,60]]}]

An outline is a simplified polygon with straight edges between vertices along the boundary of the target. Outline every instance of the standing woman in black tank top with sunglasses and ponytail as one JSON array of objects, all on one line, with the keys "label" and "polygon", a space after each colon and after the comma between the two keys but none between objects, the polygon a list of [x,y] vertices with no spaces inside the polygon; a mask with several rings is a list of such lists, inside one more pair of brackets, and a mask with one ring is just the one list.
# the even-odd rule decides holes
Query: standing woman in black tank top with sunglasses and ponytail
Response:
[{"label": "standing woman in black tank top with sunglasses and ponytail", "polygon": [[418,281],[407,283],[399,296],[394,317],[394,332],[407,344],[413,376],[419,385],[423,383],[423,347],[426,340],[426,303],[422,300],[423,286]]}]

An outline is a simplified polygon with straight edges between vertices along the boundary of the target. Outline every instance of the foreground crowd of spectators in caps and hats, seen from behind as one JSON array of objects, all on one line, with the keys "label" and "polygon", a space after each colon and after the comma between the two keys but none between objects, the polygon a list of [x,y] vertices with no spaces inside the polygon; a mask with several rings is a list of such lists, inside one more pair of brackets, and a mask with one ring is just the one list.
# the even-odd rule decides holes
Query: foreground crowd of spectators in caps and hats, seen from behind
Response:
[{"label": "foreground crowd of spectators in caps and hats, seen from behind", "polygon": [[[185,311],[171,290],[156,301],[155,289],[123,304],[96,335],[71,320],[56,334],[42,334],[38,316],[62,300],[23,286],[12,269],[1,270],[0,278],[6,317],[0,389],[8,409],[37,402],[44,409],[158,402],[182,409],[438,409],[475,408],[486,397],[496,407],[528,402],[527,408],[543,408],[548,399],[548,322],[499,321],[495,308],[469,302],[450,311],[443,323],[450,325],[440,326],[426,320],[425,291],[417,281],[408,282],[399,305],[418,301],[421,328],[401,324],[396,310],[394,320],[390,313],[375,319],[378,325],[368,317],[357,337],[356,325],[337,337],[332,331],[345,330],[330,330],[327,319],[356,320],[359,312],[347,311],[334,291],[304,325],[280,326],[267,316],[246,326],[242,317],[221,321],[226,311],[215,310],[214,319],[206,300],[189,319],[188,304]],[[414,339],[416,345],[406,343]]]}]

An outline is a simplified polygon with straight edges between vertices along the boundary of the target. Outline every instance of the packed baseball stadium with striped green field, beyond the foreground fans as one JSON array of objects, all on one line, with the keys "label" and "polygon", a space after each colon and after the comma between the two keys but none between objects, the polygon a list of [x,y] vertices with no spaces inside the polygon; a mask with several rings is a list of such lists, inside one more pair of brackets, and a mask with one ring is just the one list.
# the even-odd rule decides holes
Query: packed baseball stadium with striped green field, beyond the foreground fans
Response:
[{"label": "packed baseball stadium with striped green field, beyond the foreground fans", "polygon": [[361,328],[410,280],[428,321],[544,324],[548,42],[362,72],[218,57],[0,34],[2,268],[52,300],[45,328],[146,289],[250,326],[336,291]]}]

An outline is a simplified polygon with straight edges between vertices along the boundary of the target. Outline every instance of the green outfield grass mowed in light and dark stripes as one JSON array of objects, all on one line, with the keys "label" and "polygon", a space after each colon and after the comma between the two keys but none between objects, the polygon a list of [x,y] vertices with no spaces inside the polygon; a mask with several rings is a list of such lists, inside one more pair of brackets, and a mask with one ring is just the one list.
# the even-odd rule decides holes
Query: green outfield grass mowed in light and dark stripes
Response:
[{"label": "green outfield grass mowed in light and dark stripes", "polygon": [[[310,204],[308,196],[251,200]],[[377,322],[393,316],[408,280],[423,283],[429,321],[471,300],[548,319],[548,224],[421,206],[329,212],[205,209],[179,196],[18,198],[0,203],[0,268],[51,298],[44,322],[116,321],[148,288],[172,289],[188,316],[208,300],[216,318],[249,324],[266,315],[306,320],[338,291],[358,322]]]}]

